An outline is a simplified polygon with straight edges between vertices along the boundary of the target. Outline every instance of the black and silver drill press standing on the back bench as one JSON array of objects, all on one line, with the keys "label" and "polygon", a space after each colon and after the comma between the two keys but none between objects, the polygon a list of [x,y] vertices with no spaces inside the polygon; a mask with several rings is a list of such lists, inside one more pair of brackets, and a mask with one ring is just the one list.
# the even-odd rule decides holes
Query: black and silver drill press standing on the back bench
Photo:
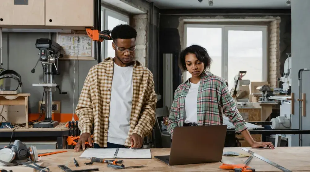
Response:
[{"label": "black and silver drill press standing on the back bench", "polygon": [[[38,123],[33,124],[33,128],[52,128],[59,124],[58,121],[52,120],[52,92],[55,91],[56,88],[60,88],[57,84],[53,83],[53,75],[59,75],[58,71],[58,58],[61,58],[63,55],[57,55],[60,52],[60,45],[56,42],[41,38],[36,41],[36,48],[40,50],[40,57],[35,65],[35,67],[31,70],[32,73],[35,72],[35,68],[38,65],[38,62],[41,61],[43,72],[44,72],[44,83],[43,84],[32,84],[34,87],[43,87],[45,92],[45,119]],[[57,63],[57,66],[56,66]],[[67,94],[67,92],[60,92],[60,94]]]}]

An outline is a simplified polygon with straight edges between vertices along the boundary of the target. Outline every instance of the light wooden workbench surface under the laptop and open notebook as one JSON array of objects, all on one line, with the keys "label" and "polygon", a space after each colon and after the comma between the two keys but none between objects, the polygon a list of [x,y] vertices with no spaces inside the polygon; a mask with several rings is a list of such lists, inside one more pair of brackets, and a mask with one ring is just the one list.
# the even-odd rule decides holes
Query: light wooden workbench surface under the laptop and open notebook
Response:
[{"label": "light wooden workbench surface under the laptop and open notebook", "polygon": [[[249,148],[251,151],[287,168],[291,171],[310,171],[310,147],[277,147],[275,149],[255,149]],[[39,153],[53,152],[57,150],[38,150]],[[241,148],[224,148],[224,152],[233,151],[250,155]],[[85,165],[84,162],[90,162],[90,159],[78,158],[83,151],[74,152],[73,149],[68,149],[68,152],[58,153],[54,155],[48,155],[42,157],[42,161],[45,166],[49,166],[52,172],[63,172],[58,165],[65,165],[72,170],[82,170],[90,168],[99,168],[99,171],[115,171],[114,169],[107,167],[107,164],[94,163],[92,165]],[[122,159],[126,166],[141,166],[146,165],[143,168],[126,169],[126,171],[229,171],[219,169],[222,165],[221,162],[216,163],[205,163],[205,164],[190,164],[190,165],[178,165],[168,166],[165,163],[157,160],[154,156],[158,155],[169,155],[170,148],[153,148],[151,149],[152,159]],[[79,167],[75,167],[73,163],[75,158]],[[222,158],[223,163],[228,164],[243,164],[248,157],[224,157]],[[117,159],[120,160],[120,159]],[[251,160],[250,167],[255,168],[255,171],[281,171],[268,163],[253,157]],[[121,170],[124,171],[124,170]]]}]

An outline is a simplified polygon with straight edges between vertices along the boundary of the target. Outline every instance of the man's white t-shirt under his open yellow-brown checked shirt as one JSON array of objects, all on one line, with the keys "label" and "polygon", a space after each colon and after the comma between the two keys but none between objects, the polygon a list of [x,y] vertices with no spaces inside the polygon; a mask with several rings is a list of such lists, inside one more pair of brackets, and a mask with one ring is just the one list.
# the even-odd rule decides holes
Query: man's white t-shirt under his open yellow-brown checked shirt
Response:
[{"label": "man's white t-shirt under his open yellow-brown checked shirt", "polygon": [[108,142],[124,144],[127,138],[132,105],[133,65],[120,67],[114,63],[112,79]]}]

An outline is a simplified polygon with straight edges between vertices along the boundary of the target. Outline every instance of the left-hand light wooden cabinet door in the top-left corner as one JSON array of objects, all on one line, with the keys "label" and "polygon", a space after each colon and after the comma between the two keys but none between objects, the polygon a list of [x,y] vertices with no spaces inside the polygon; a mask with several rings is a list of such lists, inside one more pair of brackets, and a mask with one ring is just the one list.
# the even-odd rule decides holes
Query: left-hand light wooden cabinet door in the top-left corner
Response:
[{"label": "left-hand light wooden cabinet door in the top-left corner", "polygon": [[44,0],[1,0],[0,25],[44,25],[44,8]]}]

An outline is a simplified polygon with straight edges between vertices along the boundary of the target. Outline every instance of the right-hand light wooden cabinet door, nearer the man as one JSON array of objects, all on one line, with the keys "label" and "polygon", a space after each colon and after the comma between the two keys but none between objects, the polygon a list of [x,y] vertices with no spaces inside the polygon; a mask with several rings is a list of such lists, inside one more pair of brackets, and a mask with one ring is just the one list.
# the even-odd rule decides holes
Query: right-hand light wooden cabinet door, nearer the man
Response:
[{"label": "right-hand light wooden cabinet door, nearer the man", "polygon": [[94,0],[45,0],[45,25],[85,26],[94,23]]}]

